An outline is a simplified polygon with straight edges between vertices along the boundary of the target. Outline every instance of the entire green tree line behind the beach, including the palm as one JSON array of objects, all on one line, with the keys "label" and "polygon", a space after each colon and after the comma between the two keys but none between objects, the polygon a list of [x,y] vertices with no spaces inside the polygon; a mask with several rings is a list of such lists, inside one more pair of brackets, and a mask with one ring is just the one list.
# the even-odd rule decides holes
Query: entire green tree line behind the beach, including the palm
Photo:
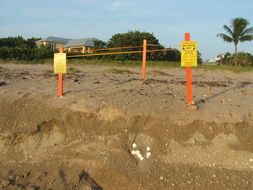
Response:
[{"label": "entire green tree line behind the beach, including the palm", "polygon": [[[253,56],[250,53],[238,52],[238,43],[253,40],[253,27],[248,27],[249,21],[244,18],[232,19],[231,25],[224,25],[223,28],[226,33],[217,34],[226,42],[234,43],[235,51],[233,54],[220,54],[220,64],[233,64],[236,66],[253,65]],[[24,39],[21,36],[0,38],[0,59],[2,60],[24,60],[24,61],[39,61],[53,58],[54,50],[50,46],[36,46],[36,41],[40,38]],[[101,40],[95,41],[95,49],[117,48],[124,46],[142,46],[143,40],[147,39],[149,44],[156,44],[159,46],[149,47],[149,50],[154,49],[170,49],[165,48],[159,43],[159,40],[153,33],[129,31],[126,33],[114,34],[108,42]],[[129,48],[123,50],[111,51],[96,51],[95,53],[110,53],[115,51],[141,51],[142,47]],[[148,60],[153,61],[180,61],[180,51],[170,50],[148,53]],[[107,60],[141,60],[142,54],[117,54],[84,57],[83,59],[107,59]],[[198,52],[198,62],[201,63],[201,54]]]}]

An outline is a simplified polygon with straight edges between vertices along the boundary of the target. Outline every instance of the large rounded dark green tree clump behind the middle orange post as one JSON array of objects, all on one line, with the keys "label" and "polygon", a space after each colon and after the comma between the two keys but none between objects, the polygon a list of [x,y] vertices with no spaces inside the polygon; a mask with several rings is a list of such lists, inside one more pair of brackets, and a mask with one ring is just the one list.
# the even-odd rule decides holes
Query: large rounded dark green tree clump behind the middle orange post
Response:
[{"label": "large rounded dark green tree clump behind the middle orange post", "polygon": [[[165,48],[159,43],[159,40],[149,32],[128,31],[126,33],[114,34],[108,42],[101,40],[95,41],[95,49],[103,48],[118,48],[129,46],[142,46],[143,40],[146,39],[148,44],[158,45],[156,47],[148,47],[148,50],[161,50],[170,49],[164,52],[150,52],[147,54],[147,59],[151,61],[180,61],[180,51],[173,50],[172,48]],[[94,53],[112,53],[112,52],[127,52],[127,51],[142,51],[142,47],[113,49],[113,50],[100,50]],[[142,53],[134,54],[116,54],[116,55],[98,55],[92,57],[84,57],[84,59],[107,59],[107,60],[120,60],[120,61],[139,61],[142,59]]]}]

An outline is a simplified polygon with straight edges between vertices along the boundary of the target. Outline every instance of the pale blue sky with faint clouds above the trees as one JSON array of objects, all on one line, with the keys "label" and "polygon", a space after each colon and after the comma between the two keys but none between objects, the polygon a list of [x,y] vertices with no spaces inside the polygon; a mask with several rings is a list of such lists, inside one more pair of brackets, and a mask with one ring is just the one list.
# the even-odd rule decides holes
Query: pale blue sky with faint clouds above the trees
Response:
[{"label": "pale blue sky with faint clouds above the trees", "polygon": [[[253,26],[253,0],[0,0],[0,37],[96,37],[108,41],[129,30],[154,33],[175,47],[191,33],[204,60],[233,52],[216,37],[232,18]],[[253,41],[239,45],[253,54]]]}]

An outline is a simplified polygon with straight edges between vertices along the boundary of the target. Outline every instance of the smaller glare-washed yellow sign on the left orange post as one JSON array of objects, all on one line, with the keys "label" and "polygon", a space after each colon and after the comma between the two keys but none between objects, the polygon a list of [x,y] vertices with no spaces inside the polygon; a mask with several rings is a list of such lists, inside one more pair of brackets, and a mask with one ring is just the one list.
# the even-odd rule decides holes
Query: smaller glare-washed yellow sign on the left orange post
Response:
[{"label": "smaller glare-washed yellow sign on the left orange post", "polygon": [[54,73],[55,74],[67,73],[66,53],[55,53],[54,54]]}]

